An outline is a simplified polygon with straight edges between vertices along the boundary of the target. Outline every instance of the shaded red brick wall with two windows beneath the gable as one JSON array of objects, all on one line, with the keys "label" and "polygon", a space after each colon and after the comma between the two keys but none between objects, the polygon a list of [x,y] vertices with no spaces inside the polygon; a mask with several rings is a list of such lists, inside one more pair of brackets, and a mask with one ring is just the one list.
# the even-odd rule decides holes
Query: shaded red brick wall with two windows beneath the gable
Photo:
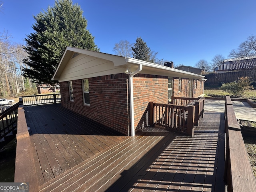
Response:
[{"label": "shaded red brick wall with two windows beneath the gable", "polygon": [[89,78],[90,106],[83,104],[81,79],[72,81],[73,102],[69,99],[68,82],[61,82],[62,106],[129,135],[127,80],[126,74]]}]

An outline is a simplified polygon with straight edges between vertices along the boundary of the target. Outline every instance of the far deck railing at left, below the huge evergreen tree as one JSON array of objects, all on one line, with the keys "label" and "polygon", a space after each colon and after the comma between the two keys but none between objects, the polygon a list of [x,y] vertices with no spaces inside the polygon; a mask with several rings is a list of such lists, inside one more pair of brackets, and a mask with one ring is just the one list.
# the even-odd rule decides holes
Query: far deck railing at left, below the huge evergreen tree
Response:
[{"label": "far deck railing at left, below the huge evergreen tree", "polygon": [[61,102],[60,93],[54,94],[45,94],[45,95],[32,95],[32,96],[23,96],[23,105],[40,105],[48,103],[57,103]]}]

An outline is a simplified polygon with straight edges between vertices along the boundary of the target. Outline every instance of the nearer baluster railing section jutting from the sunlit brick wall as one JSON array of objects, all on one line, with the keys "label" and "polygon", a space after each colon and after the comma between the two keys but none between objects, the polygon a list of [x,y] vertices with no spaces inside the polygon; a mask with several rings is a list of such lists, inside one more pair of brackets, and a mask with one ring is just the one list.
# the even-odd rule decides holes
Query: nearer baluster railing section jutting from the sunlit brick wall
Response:
[{"label": "nearer baluster railing section jutting from the sunlit brick wall", "polygon": [[195,106],[150,102],[150,122],[193,136]]}]

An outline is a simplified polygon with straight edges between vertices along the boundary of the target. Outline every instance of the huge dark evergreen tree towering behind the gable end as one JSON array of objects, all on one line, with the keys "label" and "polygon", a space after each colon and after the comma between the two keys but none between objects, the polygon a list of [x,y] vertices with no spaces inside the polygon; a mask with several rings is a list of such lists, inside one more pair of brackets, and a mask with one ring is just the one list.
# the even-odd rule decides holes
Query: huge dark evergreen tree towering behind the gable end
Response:
[{"label": "huge dark evergreen tree towering behind the gable end", "polygon": [[66,46],[99,51],[94,37],[86,29],[87,20],[72,0],[55,0],[53,7],[34,16],[34,33],[27,35],[24,76],[37,84],[53,84],[52,76]]}]

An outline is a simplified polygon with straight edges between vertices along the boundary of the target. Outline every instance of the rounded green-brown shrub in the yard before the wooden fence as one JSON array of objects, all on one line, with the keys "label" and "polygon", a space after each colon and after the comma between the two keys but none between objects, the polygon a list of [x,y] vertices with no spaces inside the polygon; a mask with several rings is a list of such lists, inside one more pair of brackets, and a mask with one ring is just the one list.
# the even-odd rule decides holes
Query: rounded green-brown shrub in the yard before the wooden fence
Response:
[{"label": "rounded green-brown shrub in the yard before the wooden fence", "polygon": [[250,77],[240,77],[237,81],[224,83],[220,87],[224,92],[228,92],[232,97],[242,97],[250,89],[253,89],[252,80]]}]

